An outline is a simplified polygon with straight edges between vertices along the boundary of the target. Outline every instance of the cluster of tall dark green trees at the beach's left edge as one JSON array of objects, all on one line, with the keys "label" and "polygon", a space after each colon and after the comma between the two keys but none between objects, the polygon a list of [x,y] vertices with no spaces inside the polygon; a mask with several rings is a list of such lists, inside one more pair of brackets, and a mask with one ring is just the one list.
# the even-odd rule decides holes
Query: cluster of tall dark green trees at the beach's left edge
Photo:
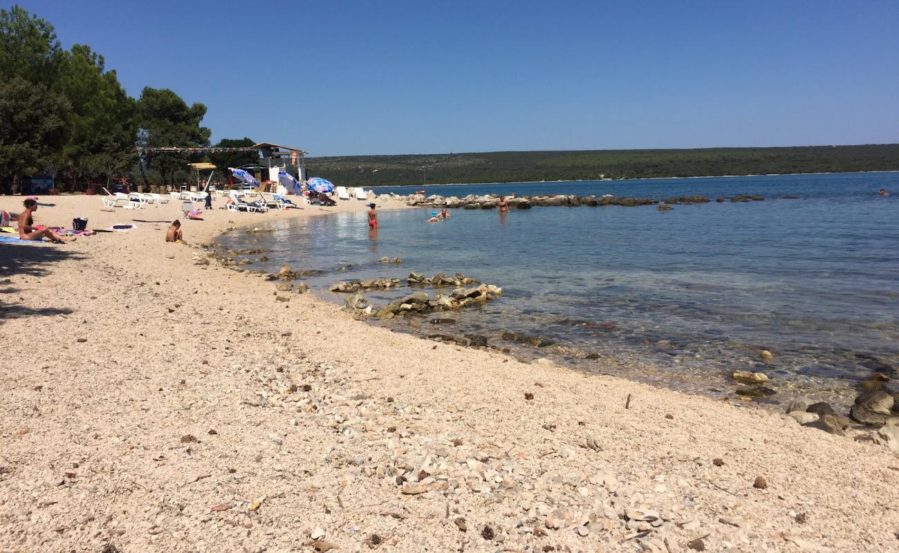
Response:
[{"label": "cluster of tall dark green trees at the beach's left edge", "polygon": [[[53,25],[18,5],[0,9],[0,76],[2,192],[45,172],[68,190],[109,183],[143,169],[138,145],[209,145],[209,129],[200,125],[206,106],[151,87],[130,97],[99,53],[82,44],[62,49]],[[153,176],[174,183],[198,159],[165,154],[143,161]]]}]

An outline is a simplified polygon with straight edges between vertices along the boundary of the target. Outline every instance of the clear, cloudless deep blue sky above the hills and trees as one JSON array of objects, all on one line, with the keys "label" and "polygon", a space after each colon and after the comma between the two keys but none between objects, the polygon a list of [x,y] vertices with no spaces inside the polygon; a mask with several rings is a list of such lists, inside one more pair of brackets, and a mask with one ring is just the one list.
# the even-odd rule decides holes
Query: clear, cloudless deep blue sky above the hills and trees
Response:
[{"label": "clear, cloudless deep blue sky above the hills and trees", "polygon": [[899,142],[899,2],[26,0],[311,156]]}]

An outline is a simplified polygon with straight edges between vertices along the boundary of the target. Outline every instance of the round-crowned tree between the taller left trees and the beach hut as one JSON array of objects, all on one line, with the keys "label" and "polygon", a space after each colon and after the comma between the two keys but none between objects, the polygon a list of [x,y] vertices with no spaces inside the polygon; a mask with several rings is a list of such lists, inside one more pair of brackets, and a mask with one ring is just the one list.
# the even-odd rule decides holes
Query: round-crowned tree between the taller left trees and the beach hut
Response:
[{"label": "round-crowned tree between the taller left trees and the beach hut", "polygon": [[[211,132],[200,126],[206,115],[206,106],[202,103],[189,106],[181,96],[167,88],[147,86],[140,94],[138,113],[138,144],[142,147],[209,146]],[[175,183],[175,174],[191,162],[191,155],[147,153],[143,161],[168,183]]]}]

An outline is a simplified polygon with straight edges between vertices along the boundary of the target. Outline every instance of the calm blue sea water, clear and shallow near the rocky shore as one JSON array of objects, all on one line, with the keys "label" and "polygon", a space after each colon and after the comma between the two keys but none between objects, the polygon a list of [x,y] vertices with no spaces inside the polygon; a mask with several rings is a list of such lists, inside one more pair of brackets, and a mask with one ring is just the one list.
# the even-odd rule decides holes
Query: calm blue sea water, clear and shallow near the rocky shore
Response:
[{"label": "calm blue sea water, clear and shallow near the rocky shore", "polygon": [[[880,188],[895,196],[879,196]],[[462,272],[496,284],[503,297],[478,308],[374,324],[423,335],[484,335],[520,358],[546,357],[580,370],[713,393],[734,391],[730,370],[762,370],[779,397],[796,388],[845,400],[873,371],[899,368],[899,174],[481,184],[428,192],[765,200],[670,211],[450,210],[452,217],[438,223],[426,221],[432,208],[381,211],[377,233],[369,233],[365,213],[342,213],[280,221],[264,235],[236,231],[221,242],[227,249],[271,248],[266,263],[249,256],[249,269],[277,272],[289,263],[323,270],[307,283],[334,301],[343,301],[327,291],[336,281],[402,279],[409,272]],[[379,263],[384,256],[404,263]],[[379,305],[404,293],[368,297]],[[432,317],[456,322],[432,324]],[[505,330],[552,344],[505,341]],[[761,362],[763,349],[774,353],[773,363]]]}]

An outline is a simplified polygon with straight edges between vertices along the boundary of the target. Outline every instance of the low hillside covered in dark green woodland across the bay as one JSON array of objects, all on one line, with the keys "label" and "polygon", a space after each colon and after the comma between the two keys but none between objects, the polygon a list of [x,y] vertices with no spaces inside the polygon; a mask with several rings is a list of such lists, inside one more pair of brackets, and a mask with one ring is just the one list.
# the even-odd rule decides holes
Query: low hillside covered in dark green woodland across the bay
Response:
[{"label": "low hillside covered in dark green woodland across the bay", "polygon": [[365,187],[879,171],[899,171],[899,144],[307,158],[307,174]]}]

